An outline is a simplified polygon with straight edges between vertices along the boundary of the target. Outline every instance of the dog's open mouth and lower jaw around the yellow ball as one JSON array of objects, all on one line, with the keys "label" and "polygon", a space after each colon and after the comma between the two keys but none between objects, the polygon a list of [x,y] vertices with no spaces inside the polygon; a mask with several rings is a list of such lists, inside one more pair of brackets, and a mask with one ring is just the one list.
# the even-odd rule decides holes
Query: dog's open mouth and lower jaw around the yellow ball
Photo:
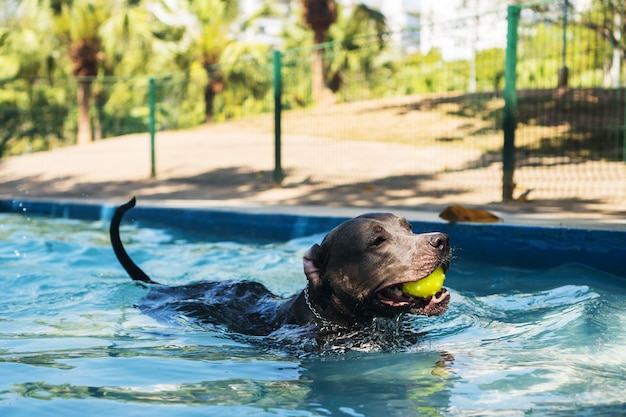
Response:
[{"label": "dog's open mouth and lower jaw around the yellow ball", "polygon": [[378,301],[386,307],[426,316],[443,314],[448,309],[448,304],[450,303],[450,292],[443,287],[435,294],[419,296],[406,292],[405,282],[385,287],[378,291],[376,295]]}]

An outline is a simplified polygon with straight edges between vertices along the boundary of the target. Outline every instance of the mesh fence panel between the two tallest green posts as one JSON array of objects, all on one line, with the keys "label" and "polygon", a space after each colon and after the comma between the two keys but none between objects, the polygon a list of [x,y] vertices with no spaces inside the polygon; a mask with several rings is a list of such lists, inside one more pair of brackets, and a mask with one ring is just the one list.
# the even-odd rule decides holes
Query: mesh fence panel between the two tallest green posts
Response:
[{"label": "mesh fence panel between the two tallest green posts", "polygon": [[[490,45],[481,37],[493,33],[477,31],[498,25],[504,42]],[[330,92],[313,111],[283,114],[286,146],[290,137],[307,141],[308,161],[317,161],[304,179],[431,200],[499,200],[506,11],[383,36],[383,50],[376,36],[326,45]],[[310,50],[287,51],[284,78],[299,62],[304,75],[294,78],[310,79],[310,59]],[[283,91],[302,89],[286,81]],[[358,147],[370,154],[355,155]]]}]

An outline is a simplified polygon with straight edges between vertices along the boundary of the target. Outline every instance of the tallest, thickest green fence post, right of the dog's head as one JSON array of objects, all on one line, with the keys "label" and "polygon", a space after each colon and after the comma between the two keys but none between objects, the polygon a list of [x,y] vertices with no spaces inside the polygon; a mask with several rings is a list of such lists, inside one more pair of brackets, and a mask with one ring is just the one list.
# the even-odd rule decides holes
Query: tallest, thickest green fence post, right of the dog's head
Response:
[{"label": "tallest, thickest green fence post, right of the dog's head", "polygon": [[517,27],[521,14],[520,6],[507,8],[507,42],[506,61],[504,67],[504,114],[502,130],[504,145],[502,146],[502,200],[513,199],[515,182],[515,128],[517,125]]}]

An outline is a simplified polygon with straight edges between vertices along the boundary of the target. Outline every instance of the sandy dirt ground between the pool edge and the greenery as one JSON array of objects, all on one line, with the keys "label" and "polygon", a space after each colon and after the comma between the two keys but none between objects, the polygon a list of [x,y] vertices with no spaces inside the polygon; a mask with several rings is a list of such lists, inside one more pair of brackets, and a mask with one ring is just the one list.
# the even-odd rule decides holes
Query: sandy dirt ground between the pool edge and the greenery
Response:
[{"label": "sandy dirt ground between the pool edge and the greenery", "polygon": [[[177,200],[189,204],[315,208],[357,207],[438,213],[451,204],[491,210],[527,223],[624,225],[626,201],[615,199],[533,199],[501,203],[499,173],[479,173],[492,186],[467,192],[475,170],[437,175],[436,148],[399,143],[331,141],[320,154],[319,138],[286,135],[282,186],[272,182],[273,139],[204,126],[157,135],[156,177],[150,177],[147,134],[107,139],[85,146],[0,160],[0,198],[121,201]],[[466,152],[472,152],[466,150]],[[349,158],[345,156],[349,155]],[[459,154],[458,163],[475,155]],[[391,163],[381,163],[391,161]],[[418,163],[416,163],[418,161]],[[447,156],[446,164],[450,162]],[[426,167],[416,172],[416,166]],[[618,179],[623,184],[623,178]],[[601,184],[600,184],[601,185]],[[613,187],[607,185],[608,189]]]}]

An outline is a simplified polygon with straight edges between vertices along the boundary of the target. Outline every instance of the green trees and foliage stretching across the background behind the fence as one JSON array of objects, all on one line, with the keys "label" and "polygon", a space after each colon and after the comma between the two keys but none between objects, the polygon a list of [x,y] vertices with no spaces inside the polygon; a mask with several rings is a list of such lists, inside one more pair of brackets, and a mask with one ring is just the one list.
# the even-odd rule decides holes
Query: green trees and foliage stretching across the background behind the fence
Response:
[{"label": "green trees and foliage stretching across the background behind the fence", "polygon": [[[0,153],[73,142],[77,84],[69,52],[77,38],[96,37],[102,48],[97,76],[89,78],[92,128],[102,137],[147,130],[150,76],[158,129],[204,122],[208,91],[214,121],[271,111],[270,46],[236,40],[233,28],[249,24],[239,22],[237,3],[24,0],[14,19],[0,26]],[[614,2],[595,1],[604,9],[572,17],[568,26],[571,86],[605,82],[615,45],[599,27],[615,20],[607,18],[611,4],[604,3]],[[324,44],[325,83],[337,101],[469,90],[469,60],[445,60],[436,48],[399,56],[388,44],[382,14],[365,5],[351,10],[338,14]],[[307,107],[313,37],[299,18],[284,31],[283,107]],[[519,35],[518,88],[554,88],[563,65],[561,22],[522,21]],[[501,48],[476,51],[477,92],[503,88],[504,57]]]}]

